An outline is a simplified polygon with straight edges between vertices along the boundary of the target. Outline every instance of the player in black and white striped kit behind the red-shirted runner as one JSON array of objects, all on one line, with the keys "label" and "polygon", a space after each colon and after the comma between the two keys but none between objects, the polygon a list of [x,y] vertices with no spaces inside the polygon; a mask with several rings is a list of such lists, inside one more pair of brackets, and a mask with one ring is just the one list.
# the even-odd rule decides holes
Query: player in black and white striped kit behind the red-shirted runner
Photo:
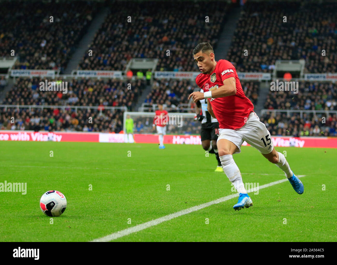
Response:
[{"label": "player in black and white striped kit behind the red-shirted runner", "polygon": [[[203,89],[201,89],[200,92],[203,93]],[[203,99],[196,102],[195,118],[198,121],[201,121],[201,144],[203,148],[209,153],[215,154],[215,157],[218,161],[218,166],[216,167],[215,172],[223,172],[216,146],[216,141],[218,140],[219,136],[219,122],[207,111],[207,100],[208,99]]]}]

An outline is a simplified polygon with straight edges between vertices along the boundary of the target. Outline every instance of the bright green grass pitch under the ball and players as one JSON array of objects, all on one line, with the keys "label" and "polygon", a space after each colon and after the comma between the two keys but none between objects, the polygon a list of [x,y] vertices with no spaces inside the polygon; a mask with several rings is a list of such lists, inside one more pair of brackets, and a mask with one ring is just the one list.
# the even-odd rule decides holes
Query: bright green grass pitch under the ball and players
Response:
[{"label": "bright green grass pitch under the ball and players", "polygon": [[[306,175],[302,195],[287,181],[250,193],[249,209],[233,198],[115,241],[337,241],[337,150],[276,149]],[[0,182],[27,183],[26,195],[0,192],[1,241],[90,241],[236,193],[200,145],[0,142],[0,157]],[[244,183],[285,178],[252,147],[234,159]],[[68,202],[53,224],[39,208],[51,189]]]}]

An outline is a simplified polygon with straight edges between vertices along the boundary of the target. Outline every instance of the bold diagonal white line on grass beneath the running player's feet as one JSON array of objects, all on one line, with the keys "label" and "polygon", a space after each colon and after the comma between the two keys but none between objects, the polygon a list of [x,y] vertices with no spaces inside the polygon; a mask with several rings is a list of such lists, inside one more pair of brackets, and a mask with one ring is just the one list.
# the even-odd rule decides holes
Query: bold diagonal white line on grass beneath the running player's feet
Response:
[{"label": "bold diagonal white line on grass beneath the running player's feet", "polygon": [[[304,177],[304,176],[306,176],[306,175],[298,175],[297,177]],[[274,182],[271,182],[271,183],[268,183],[268,184],[256,187],[255,188],[255,192],[257,190],[261,190],[261,189],[264,189],[264,188],[267,188],[267,187],[270,187],[270,186],[273,186],[273,185],[285,182],[287,180],[288,179],[285,178],[285,179],[282,179],[282,180],[274,181]],[[249,190],[247,190],[247,193],[252,192],[252,191],[254,191],[254,189],[249,189]],[[206,208],[208,206],[211,206],[213,204],[218,204],[220,202],[224,202],[226,200],[235,198],[237,196],[239,196],[239,193],[235,193],[235,194],[228,195],[228,196],[216,199],[216,200],[212,200],[210,202],[206,202],[206,203],[203,203],[203,204],[200,204],[200,205],[196,205],[196,206],[193,206],[191,208],[188,208],[188,209],[185,209],[185,210],[181,210],[179,212],[176,212],[176,213],[173,213],[173,214],[169,214],[169,215],[157,218],[155,220],[151,220],[149,222],[146,222],[146,223],[143,223],[143,224],[139,224],[139,225],[136,225],[136,226],[133,226],[133,227],[130,227],[130,228],[127,228],[127,229],[124,229],[124,230],[112,233],[110,235],[106,235],[106,236],[103,236],[103,237],[100,237],[100,238],[96,238],[96,239],[94,239],[94,240],[92,240],[90,242],[108,242],[108,241],[111,241],[111,240],[115,240],[115,239],[117,239],[119,237],[126,236],[126,235],[129,235],[129,234],[135,233],[135,232],[139,232],[139,231],[144,230],[146,228],[149,228],[151,226],[155,226],[155,225],[158,225],[158,224],[163,223],[165,221],[171,220],[173,218],[177,218],[179,216],[186,215],[186,214],[189,214],[189,213],[201,210],[201,209]]]}]

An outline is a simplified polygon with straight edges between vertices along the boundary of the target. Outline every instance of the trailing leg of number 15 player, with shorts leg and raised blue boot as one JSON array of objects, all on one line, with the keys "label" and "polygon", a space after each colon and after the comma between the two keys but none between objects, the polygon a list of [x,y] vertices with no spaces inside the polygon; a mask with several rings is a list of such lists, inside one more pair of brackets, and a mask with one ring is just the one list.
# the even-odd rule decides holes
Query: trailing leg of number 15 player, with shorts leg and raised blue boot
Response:
[{"label": "trailing leg of number 15 player, with shorts leg and raised blue boot", "polygon": [[246,124],[240,128],[240,131],[244,135],[244,140],[260,151],[271,163],[276,164],[284,172],[294,190],[298,194],[302,194],[304,191],[302,182],[294,175],[284,155],[275,150],[270,132],[256,113],[253,112],[249,115]]}]

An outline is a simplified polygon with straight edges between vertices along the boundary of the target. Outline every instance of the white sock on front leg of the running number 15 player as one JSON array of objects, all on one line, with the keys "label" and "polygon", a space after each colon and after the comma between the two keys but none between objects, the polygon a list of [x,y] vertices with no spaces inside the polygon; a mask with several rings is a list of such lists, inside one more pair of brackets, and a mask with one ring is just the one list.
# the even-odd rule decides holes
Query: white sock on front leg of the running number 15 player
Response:
[{"label": "white sock on front leg of the running number 15 player", "polygon": [[242,182],[240,169],[233,159],[233,155],[219,156],[223,172],[227,178],[233,183],[233,186],[239,193],[246,194],[245,185]]}]

